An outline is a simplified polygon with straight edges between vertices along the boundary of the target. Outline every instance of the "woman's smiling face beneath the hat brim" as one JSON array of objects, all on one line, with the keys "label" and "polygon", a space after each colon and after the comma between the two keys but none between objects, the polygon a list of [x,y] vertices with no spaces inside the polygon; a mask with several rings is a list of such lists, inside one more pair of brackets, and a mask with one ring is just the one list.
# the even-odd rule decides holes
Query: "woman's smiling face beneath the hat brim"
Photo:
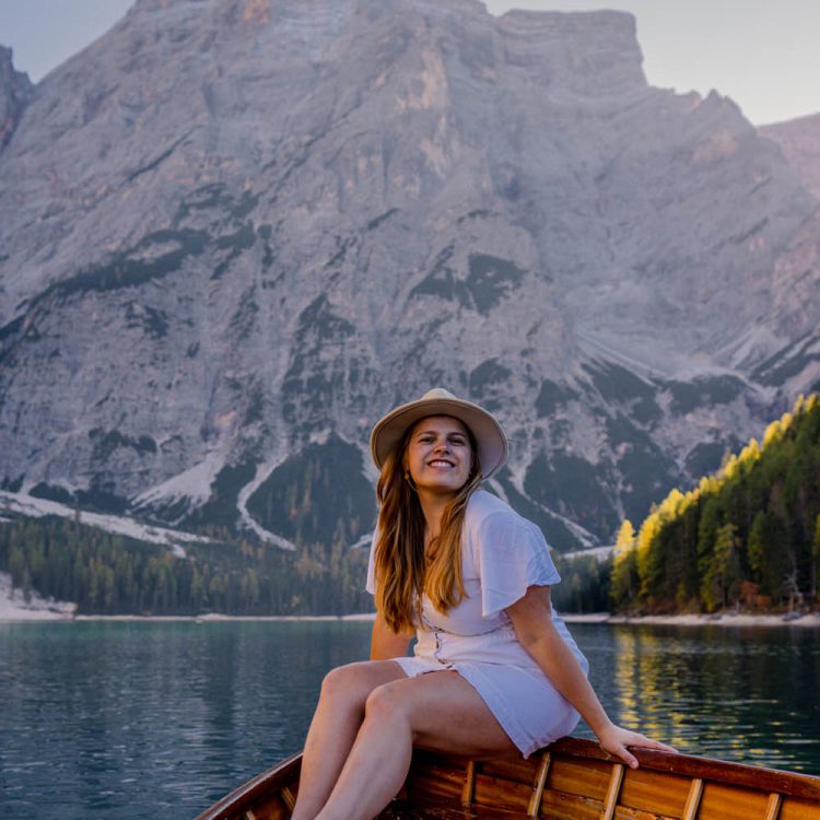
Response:
[{"label": "woman's smiling face beneath the hat brim", "polygon": [[455,495],[470,477],[472,446],[467,427],[449,415],[429,415],[415,422],[405,470],[420,492]]}]

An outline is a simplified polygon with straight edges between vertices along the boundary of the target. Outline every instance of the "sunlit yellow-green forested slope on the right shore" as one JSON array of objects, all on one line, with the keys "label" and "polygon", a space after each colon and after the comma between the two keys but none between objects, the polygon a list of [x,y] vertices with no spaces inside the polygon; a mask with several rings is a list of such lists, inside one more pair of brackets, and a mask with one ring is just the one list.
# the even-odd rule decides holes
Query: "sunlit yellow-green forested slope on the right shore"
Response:
[{"label": "sunlit yellow-green forested slope on the right shore", "polygon": [[610,595],[621,611],[813,608],[820,581],[820,397],[752,438],[637,531],[621,525]]}]

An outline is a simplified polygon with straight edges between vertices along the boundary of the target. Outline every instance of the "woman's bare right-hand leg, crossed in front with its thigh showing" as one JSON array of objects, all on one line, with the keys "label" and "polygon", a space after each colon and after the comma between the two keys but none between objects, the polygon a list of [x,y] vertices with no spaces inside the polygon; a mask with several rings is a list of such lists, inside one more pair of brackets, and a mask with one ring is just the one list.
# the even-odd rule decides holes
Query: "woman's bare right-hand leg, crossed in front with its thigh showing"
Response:
[{"label": "woman's bare right-hand leg, crossed in front with its thigh showing", "polygon": [[367,698],[364,723],[316,820],[371,820],[401,788],[413,745],[471,757],[517,749],[481,695],[458,672],[385,683]]}]

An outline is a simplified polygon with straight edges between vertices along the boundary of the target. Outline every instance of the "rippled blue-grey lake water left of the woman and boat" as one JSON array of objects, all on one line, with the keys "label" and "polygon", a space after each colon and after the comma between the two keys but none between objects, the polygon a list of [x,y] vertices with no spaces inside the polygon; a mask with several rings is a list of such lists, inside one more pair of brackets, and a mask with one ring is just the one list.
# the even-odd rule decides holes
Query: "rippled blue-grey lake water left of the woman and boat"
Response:
[{"label": "rippled blue-grey lake water left of the woman and boat", "polygon": [[190,818],[301,748],[324,671],[367,637],[344,623],[0,626],[2,816]]}]

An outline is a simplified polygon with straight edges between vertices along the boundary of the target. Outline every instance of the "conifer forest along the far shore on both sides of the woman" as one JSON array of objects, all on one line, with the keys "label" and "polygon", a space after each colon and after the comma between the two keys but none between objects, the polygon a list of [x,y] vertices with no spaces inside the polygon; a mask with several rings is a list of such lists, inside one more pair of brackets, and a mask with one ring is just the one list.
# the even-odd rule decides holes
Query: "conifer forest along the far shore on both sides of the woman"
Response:
[{"label": "conifer forest along the far shore on both sides of the woman", "polygon": [[[371,611],[367,550],[296,538],[292,553],[231,539],[187,546],[184,558],[74,519],[12,518],[0,526],[0,570],[30,596],[85,613],[234,616]],[[621,525],[614,555],[555,562],[558,609],[590,612],[782,610],[820,593],[820,397],[800,397],[714,476],[672,490],[637,530]]]}]

